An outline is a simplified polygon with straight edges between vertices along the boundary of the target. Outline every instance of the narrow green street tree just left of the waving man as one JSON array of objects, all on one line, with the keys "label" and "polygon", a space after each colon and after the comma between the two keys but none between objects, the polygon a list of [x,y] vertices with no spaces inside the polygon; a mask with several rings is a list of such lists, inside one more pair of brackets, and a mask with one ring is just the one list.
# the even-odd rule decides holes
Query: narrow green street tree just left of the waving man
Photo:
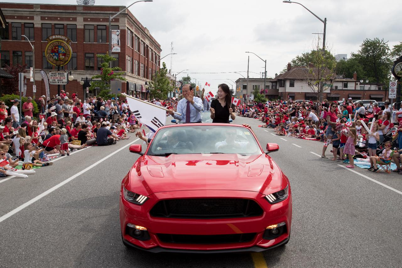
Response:
[{"label": "narrow green street tree just left of the waving man", "polygon": [[168,93],[173,91],[170,79],[166,76],[167,73],[166,64],[162,62],[162,68],[155,73],[150,82],[150,95],[152,98],[166,99]]}]

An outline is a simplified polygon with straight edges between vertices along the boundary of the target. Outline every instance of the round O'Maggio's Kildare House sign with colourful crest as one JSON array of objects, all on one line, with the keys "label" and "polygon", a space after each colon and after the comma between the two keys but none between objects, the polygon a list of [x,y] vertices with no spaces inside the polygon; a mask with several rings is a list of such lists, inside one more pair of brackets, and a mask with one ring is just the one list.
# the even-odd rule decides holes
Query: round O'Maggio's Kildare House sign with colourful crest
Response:
[{"label": "round O'Maggio's Kildare House sign with colourful crest", "polygon": [[51,35],[46,39],[46,59],[54,66],[64,66],[71,60],[71,40],[64,35]]}]

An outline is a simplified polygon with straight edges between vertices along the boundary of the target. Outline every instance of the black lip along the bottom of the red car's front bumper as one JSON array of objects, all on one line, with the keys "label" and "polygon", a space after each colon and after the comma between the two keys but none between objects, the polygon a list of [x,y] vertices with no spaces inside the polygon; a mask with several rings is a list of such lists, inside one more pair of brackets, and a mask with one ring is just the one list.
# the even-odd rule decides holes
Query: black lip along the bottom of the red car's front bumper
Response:
[{"label": "black lip along the bottom of the red car's front bumper", "polygon": [[285,240],[281,241],[280,243],[273,245],[272,247],[267,247],[267,248],[254,246],[254,247],[245,247],[245,248],[238,248],[238,249],[219,249],[219,250],[170,249],[170,248],[164,248],[164,247],[153,247],[151,249],[145,249],[143,247],[134,245],[126,240],[123,240],[123,243],[125,243],[125,245],[134,247],[136,249],[141,249],[146,252],[152,252],[152,253],[171,252],[171,253],[213,254],[213,253],[263,252],[268,249],[280,247],[281,245],[286,244],[288,241],[289,241],[289,237],[287,237]]}]

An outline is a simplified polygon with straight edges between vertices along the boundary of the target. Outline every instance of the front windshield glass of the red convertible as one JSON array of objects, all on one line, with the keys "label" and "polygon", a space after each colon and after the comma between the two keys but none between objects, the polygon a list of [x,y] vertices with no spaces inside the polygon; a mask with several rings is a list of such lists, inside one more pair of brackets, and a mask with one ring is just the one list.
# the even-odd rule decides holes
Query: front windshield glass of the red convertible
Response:
[{"label": "front windshield glass of the red convertible", "polygon": [[170,154],[239,154],[260,155],[263,152],[248,128],[240,126],[185,126],[159,130],[147,155]]}]

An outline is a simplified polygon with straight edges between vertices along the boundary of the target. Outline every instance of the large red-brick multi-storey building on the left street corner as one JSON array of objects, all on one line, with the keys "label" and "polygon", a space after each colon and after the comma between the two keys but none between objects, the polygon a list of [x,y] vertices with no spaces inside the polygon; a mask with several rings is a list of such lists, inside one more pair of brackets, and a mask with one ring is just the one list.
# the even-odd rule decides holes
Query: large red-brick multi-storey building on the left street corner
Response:
[{"label": "large red-brick multi-storey building on the left street corner", "polygon": [[[50,35],[66,35],[71,40],[72,59],[61,69],[74,76],[65,87],[70,95],[78,92],[83,98],[86,83],[80,85],[81,79],[100,74],[100,59],[96,54],[105,54],[109,50],[109,14],[112,16],[125,6],[83,6],[59,4],[14,4],[0,3],[0,8],[8,22],[1,35],[1,67],[9,62],[13,64],[33,64],[33,55],[29,42],[21,35],[26,35],[35,46],[35,84],[36,98],[46,95],[44,82],[39,74],[41,69],[49,75],[57,67],[45,59],[46,38]],[[113,52],[117,58],[112,64],[125,72],[126,81],[112,83],[112,93],[127,93],[148,97],[146,83],[159,70],[160,44],[152,37],[146,27],[129,12],[119,14],[112,20],[112,30],[120,29],[121,52]],[[33,96],[32,82],[27,79],[27,96]],[[96,95],[98,92],[89,92]],[[57,94],[57,85],[50,85],[50,95]]]}]

